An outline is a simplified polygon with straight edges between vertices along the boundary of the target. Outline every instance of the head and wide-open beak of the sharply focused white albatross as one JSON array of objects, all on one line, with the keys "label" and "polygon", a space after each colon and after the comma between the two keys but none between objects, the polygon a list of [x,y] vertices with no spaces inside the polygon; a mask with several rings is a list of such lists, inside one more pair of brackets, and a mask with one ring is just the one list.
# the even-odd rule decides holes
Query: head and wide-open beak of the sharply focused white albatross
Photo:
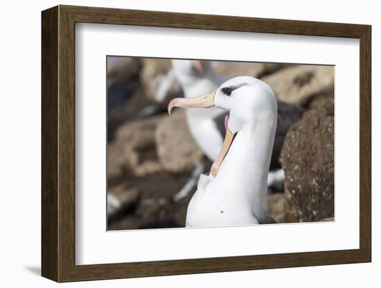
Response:
[{"label": "head and wide-open beak of the sharply focused white albatross", "polygon": [[220,154],[215,159],[211,175],[215,177],[233,139],[243,127],[255,127],[257,122],[276,123],[276,96],[265,82],[249,76],[231,78],[218,89],[195,98],[175,98],[168,104],[168,113],[174,107],[218,107],[229,111],[225,120],[226,135]]}]

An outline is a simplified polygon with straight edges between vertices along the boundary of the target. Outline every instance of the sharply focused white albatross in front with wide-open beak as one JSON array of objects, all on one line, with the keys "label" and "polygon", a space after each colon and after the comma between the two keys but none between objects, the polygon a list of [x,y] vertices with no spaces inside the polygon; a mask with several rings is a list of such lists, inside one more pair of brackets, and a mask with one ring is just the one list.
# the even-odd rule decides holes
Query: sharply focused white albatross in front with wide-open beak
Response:
[{"label": "sharply focused white albatross in front with wide-open beak", "polygon": [[211,173],[200,175],[186,226],[275,223],[266,205],[277,119],[272,89],[256,78],[241,76],[203,96],[171,100],[168,113],[173,107],[229,111],[224,143]]}]

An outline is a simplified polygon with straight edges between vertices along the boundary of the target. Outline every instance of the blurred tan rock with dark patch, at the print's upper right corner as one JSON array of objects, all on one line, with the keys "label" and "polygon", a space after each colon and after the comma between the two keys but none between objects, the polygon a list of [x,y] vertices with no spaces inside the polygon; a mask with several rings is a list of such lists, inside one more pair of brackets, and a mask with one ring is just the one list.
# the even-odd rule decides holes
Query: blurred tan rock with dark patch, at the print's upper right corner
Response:
[{"label": "blurred tan rock with dark patch, at the print's upper right corner", "polygon": [[312,96],[332,90],[333,66],[296,65],[261,78],[270,85],[278,100],[304,105]]}]

